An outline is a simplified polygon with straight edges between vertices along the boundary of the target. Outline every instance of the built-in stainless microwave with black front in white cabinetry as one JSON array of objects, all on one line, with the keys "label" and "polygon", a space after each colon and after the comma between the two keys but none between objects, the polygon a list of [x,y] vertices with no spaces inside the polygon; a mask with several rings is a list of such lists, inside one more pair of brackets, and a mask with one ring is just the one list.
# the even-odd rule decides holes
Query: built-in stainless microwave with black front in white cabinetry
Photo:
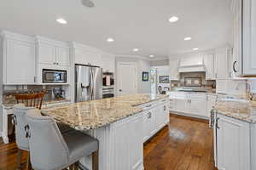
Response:
[{"label": "built-in stainless microwave with black front in white cabinetry", "polygon": [[43,69],[43,83],[66,83],[67,71]]}]

